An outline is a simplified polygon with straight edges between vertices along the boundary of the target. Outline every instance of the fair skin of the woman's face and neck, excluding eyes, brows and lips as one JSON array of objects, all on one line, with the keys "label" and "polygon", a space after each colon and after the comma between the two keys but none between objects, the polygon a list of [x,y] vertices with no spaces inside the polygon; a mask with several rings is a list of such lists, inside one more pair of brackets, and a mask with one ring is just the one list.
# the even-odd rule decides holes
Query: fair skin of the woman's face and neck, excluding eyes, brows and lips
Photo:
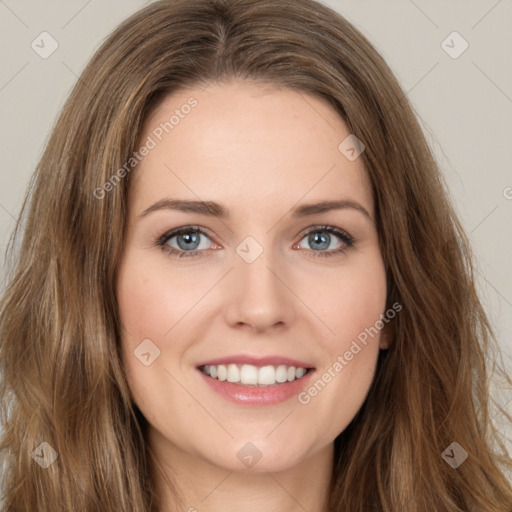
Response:
[{"label": "fair skin of the woman's face and neck, excluding eyes, brows and lips", "polygon": [[[238,511],[243,504],[248,512],[323,512],[333,441],[364,402],[388,326],[305,405],[297,397],[233,404],[205,385],[196,365],[277,354],[310,362],[321,376],[379,320],[386,275],[370,182],[362,158],[349,161],[338,150],[350,132],[333,107],[285,88],[232,81],[180,90],[148,117],[141,144],[191,96],[197,106],[130,177],[117,294],[133,400],[183,500],[180,510]],[[230,218],[170,209],[139,217],[171,197],[216,201]],[[342,198],[371,219],[352,208],[290,216],[298,204]],[[190,225],[211,233],[200,235],[199,257],[178,258],[156,245],[171,229]],[[355,245],[315,257],[345,245],[330,235],[322,249],[301,234],[319,225],[348,232]],[[252,263],[236,252],[247,236],[263,248]],[[177,236],[167,244],[180,248]],[[133,353],[144,339],[160,349],[149,366]],[[237,457],[247,442],[262,455],[252,467]],[[175,510],[165,478],[155,471],[154,479],[158,510]]]}]

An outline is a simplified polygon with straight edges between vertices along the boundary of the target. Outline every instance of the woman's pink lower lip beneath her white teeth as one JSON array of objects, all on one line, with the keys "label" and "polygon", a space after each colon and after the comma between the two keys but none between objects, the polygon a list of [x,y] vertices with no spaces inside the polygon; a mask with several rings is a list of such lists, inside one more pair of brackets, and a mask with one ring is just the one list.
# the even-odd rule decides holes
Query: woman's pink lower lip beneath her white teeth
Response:
[{"label": "woman's pink lower lip beneath her white teeth", "polygon": [[198,370],[204,381],[210,388],[238,405],[273,405],[289,400],[293,396],[297,396],[309,383],[315,370],[309,370],[306,375],[300,379],[291,382],[283,382],[273,386],[242,386],[233,382],[220,381],[209,377],[202,370]]}]

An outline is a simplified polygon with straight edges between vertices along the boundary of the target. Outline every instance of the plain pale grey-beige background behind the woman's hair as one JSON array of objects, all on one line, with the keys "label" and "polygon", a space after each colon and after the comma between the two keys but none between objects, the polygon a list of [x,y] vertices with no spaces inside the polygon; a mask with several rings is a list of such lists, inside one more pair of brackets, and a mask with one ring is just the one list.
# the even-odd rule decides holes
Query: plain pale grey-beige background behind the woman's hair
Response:
[{"label": "plain pale grey-beige background behind the woman's hair", "polygon": [[[2,289],[5,246],[60,108],[103,39],[146,3],[0,0]],[[324,3],[369,38],[407,91],[473,244],[481,298],[512,371],[512,0]],[[59,44],[47,59],[31,47],[43,31]],[[458,58],[443,47],[457,51],[460,41],[442,44],[453,31],[469,44]],[[497,394],[512,409],[510,391]]]}]

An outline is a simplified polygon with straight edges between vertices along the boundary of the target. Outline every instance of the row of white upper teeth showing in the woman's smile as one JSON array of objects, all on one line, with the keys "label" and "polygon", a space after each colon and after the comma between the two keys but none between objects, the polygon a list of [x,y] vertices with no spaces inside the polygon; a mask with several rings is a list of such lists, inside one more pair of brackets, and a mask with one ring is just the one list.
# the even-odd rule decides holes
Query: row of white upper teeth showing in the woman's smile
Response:
[{"label": "row of white upper teeth showing in the woman's smile", "polygon": [[252,364],[219,364],[205,365],[203,373],[213,379],[240,383],[244,386],[272,386],[284,382],[291,382],[300,379],[306,375],[305,368],[296,368],[295,366],[286,366],[281,364],[277,367],[267,365],[257,367]]}]

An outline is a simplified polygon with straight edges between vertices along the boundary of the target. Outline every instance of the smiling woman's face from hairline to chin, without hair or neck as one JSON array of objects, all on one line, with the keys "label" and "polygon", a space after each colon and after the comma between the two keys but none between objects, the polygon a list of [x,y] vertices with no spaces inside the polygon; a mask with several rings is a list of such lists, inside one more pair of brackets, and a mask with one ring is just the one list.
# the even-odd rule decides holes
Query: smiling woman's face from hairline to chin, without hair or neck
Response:
[{"label": "smiling woman's face from hairline to chin, without hair or neck", "polygon": [[246,82],[181,90],[146,119],[117,294],[129,386],[162,453],[292,468],[364,402],[386,275],[349,135],[324,100]]}]

